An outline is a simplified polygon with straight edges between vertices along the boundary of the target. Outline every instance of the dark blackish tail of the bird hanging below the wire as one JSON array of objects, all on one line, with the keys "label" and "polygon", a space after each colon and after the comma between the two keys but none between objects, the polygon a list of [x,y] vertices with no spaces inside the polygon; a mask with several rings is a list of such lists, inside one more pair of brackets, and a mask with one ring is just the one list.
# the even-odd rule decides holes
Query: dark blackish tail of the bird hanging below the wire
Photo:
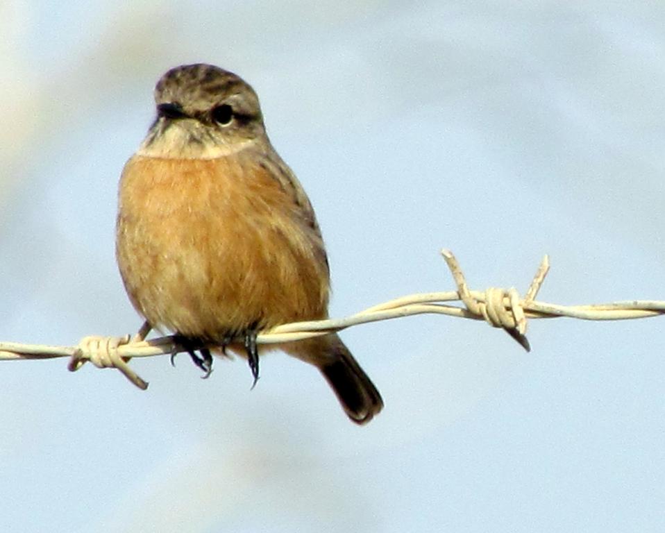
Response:
[{"label": "dark blackish tail of the bird hanging below the wire", "polygon": [[333,345],[337,357],[321,364],[319,370],[335,391],[348,418],[357,424],[366,424],[380,412],[383,400],[348,348],[339,338],[337,340],[339,342]]}]

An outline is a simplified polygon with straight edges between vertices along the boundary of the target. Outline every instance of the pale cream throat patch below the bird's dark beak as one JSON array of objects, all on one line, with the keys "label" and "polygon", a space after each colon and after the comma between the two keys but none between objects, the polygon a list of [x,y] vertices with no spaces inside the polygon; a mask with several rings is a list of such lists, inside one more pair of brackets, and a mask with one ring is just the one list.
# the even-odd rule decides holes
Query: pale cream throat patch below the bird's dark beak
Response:
[{"label": "pale cream throat patch below the bird's dark beak", "polygon": [[187,128],[171,126],[158,133],[151,130],[136,151],[137,155],[162,159],[217,159],[246,149],[255,139],[226,142],[221,135],[205,135],[193,140]]}]

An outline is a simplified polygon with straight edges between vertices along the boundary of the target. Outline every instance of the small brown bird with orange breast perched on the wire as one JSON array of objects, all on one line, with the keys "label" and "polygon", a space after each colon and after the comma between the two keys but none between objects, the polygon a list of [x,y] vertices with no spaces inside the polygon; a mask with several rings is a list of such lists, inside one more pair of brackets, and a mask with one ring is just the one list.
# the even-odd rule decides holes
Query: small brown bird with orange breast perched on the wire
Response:
[{"label": "small brown bird with orange breast perched on the wire", "polygon": [[[155,101],[157,118],[120,180],[124,285],[149,325],[174,332],[208,374],[206,346],[244,338],[244,350],[229,346],[248,357],[256,380],[256,332],[328,317],[330,272],[314,210],[241,78],[212,65],[176,67]],[[382,409],[337,335],[280,348],[323,373],[352,421]]]}]

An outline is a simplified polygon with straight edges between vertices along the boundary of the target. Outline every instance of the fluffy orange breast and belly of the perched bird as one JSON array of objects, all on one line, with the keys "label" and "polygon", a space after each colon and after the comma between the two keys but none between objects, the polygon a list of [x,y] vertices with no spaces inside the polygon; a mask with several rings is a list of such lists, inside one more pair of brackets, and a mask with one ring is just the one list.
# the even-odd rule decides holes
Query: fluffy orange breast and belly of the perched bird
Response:
[{"label": "fluffy orange breast and belly of the perched bird", "polygon": [[137,311],[181,335],[217,340],[327,314],[320,237],[285,185],[238,154],[131,158],[117,259]]}]

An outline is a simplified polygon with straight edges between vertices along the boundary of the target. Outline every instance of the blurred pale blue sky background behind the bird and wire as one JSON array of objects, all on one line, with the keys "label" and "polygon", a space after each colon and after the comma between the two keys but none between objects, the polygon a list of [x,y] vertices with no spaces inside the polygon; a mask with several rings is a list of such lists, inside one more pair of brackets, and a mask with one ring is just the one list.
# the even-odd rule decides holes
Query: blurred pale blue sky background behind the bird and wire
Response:
[{"label": "blurred pale blue sky background behind the bird and wire", "polygon": [[[314,6],[312,6],[315,4]],[[134,6],[135,5],[135,6]],[[317,210],[332,316],[451,290],[665,299],[665,4],[0,3],[0,339],[134,332],[117,180],[186,62],[257,90]],[[532,321],[532,352],[448,317],[343,337],[385,399],[366,427],[283,354],[250,391],[187,357],[150,381],[0,362],[3,532],[660,532],[660,319]]]}]

